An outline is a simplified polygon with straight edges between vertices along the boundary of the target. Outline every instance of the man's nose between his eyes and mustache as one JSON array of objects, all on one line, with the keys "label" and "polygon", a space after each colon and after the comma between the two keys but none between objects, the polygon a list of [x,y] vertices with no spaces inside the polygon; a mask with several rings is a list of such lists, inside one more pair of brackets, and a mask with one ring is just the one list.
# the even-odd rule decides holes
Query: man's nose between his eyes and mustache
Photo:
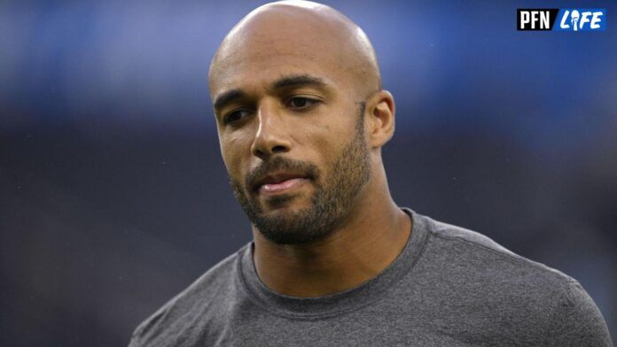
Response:
[{"label": "man's nose between his eyes and mustache", "polygon": [[283,115],[277,111],[275,104],[260,105],[257,118],[259,127],[251,145],[251,152],[255,157],[267,160],[274,154],[285,153],[292,149],[285,120]]}]

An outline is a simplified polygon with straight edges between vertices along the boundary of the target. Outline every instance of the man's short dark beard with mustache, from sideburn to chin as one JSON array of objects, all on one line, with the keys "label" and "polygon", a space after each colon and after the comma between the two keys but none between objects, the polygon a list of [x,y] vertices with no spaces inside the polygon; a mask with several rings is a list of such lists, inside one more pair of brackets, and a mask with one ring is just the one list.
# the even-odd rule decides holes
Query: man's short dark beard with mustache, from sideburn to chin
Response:
[{"label": "man's short dark beard with mustache, from sideburn to chin", "polygon": [[[278,244],[309,243],[332,233],[345,220],[354,206],[355,198],[371,177],[369,150],[364,142],[363,114],[365,104],[360,104],[360,115],[355,125],[355,136],[324,176],[312,163],[284,157],[262,162],[246,176],[245,184],[230,178],[234,196],[257,230],[269,241]],[[249,197],[246,191],[255,191],[257,177],[276,171],[302,174],[315,186],[309,206],[299,211],[268,215],[260,201]],[[270,206],[280,206],[293,199],[290,195],[269,198]]]}]

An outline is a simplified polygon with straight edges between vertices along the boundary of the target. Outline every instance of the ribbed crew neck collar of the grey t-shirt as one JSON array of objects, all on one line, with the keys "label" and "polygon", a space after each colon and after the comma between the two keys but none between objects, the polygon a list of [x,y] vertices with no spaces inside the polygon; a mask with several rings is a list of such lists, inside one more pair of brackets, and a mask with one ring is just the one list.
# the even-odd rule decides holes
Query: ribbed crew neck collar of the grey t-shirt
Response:
[{"label": "ribbed crew neck collar of the grey t-shirt", "polygon": [[394,261],[371,280],[355,288],[324,297],[290,297],[266,287],[259,278],[253,261],[254,243],[239,254],[238,274],[242,285],[257,305],[275,314],[299,319],[323,318],[354,311],[383,297],[420,257],[426,243],[426,220],[407,207],[402,207],[412,220],[410,237]]}]

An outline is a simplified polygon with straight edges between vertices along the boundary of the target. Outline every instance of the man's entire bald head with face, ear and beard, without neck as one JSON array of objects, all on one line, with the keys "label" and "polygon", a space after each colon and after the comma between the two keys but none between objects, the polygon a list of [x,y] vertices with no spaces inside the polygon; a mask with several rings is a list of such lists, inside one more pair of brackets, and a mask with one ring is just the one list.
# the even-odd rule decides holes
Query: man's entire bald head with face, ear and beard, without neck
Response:
[{"label": "man's entire bald head with face, ear and beard, without neck", "polygon": [[388,196],[381,147],[394,134],[394,98],[371,42],[340,12],[296,1],[257,8],[225,37],[209,80],[255,243],[316,240]]}]

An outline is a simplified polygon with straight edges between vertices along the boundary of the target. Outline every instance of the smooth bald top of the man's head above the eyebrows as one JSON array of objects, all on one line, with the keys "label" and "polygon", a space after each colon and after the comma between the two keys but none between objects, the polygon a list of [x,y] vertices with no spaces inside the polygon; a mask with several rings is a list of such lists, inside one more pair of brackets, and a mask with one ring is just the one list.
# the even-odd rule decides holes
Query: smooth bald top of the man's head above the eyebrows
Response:
[{"label": "smooth bald top of the man's head above the eyebrows", "polygon": [[214,97],[239,69],[262,69],[268,62],[281,74],[298,74],[293,64],[306,67],[302,59],[320,65],[332,79],[343,79],[356,97],[381,89],[375,52],[360,27],[324,4],[281,1],[258,7],[231,29],[212,60],[210,90]]}]

